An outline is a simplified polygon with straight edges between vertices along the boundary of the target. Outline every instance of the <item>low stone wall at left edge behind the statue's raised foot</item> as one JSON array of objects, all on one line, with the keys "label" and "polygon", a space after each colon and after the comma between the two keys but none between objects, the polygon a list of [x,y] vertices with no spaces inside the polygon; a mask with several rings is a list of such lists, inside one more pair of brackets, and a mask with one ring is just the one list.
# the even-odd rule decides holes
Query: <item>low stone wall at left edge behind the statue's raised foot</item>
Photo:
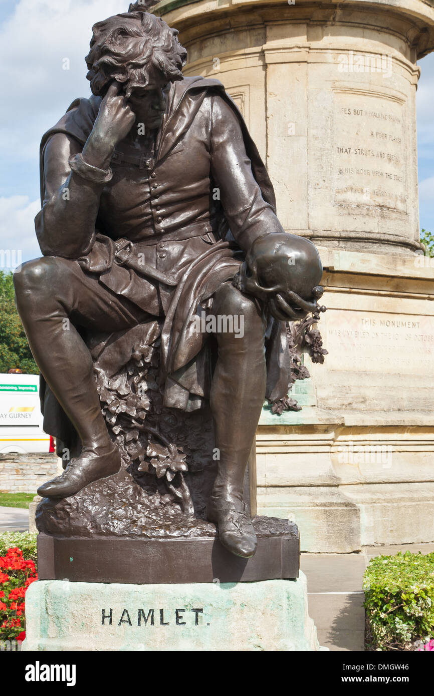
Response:
[{"label": "low stone wall at left edge behind the statue's raised foot", "polygon": [[0,491],[35,493],[57,475],[56,454],[0,454]]}]

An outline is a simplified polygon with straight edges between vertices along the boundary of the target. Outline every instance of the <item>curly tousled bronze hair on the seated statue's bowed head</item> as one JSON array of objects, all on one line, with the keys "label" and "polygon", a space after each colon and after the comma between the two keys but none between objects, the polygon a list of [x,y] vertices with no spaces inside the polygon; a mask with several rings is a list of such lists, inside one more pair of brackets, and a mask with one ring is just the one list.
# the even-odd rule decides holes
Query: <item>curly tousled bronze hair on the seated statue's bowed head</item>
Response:
[{"label": "curly tousled bronze hair on the seated statue's bowed head", "polygon": [[187,51],[161,17],[133,9],[97,22],[92,31],[85,60],[94,95],[103,96],[114,79],[125,84],[127,98],[136,87],[183,79]]}]

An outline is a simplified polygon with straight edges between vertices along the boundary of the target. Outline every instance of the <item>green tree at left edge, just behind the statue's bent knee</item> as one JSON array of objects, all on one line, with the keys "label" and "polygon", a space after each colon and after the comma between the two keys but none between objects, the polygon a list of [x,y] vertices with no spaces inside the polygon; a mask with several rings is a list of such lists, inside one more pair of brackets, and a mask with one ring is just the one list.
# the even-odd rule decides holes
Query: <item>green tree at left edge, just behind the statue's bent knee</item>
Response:
[{"label": "green tree at left edge, just behind the statue's bent knee", "polygon": [[0,372],[12,367],[27,374],[39,373],[15,308],[12,274],[0,271]]}]

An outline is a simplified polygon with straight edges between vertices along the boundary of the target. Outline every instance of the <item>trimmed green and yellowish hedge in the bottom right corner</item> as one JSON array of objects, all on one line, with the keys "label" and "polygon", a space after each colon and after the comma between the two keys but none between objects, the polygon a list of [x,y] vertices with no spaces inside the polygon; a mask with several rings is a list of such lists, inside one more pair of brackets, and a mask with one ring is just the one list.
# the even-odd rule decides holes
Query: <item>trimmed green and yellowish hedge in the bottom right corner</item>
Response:
[{"label": "trimmed green and yellowish hedge in the bottom right corner", "polygon": [[368,647],[406,650],[414,640],[434,635],[434,553],[371,559],[363,589]]}]

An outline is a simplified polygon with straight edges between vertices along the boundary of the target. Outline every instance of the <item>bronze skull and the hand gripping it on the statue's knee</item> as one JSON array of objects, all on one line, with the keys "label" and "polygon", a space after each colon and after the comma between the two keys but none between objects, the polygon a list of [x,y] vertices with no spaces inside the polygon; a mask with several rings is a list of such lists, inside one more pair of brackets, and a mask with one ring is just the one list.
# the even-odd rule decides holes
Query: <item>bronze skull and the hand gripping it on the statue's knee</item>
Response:
[{"label": "bronze skull and the hand gripping it on the statue's knee", "polygon": [[319,285],[322,275],[316,246],[281,232],[254,241],[233,285],[266,301],[275,319],[294,322],[318,310],[324,292]]}]

